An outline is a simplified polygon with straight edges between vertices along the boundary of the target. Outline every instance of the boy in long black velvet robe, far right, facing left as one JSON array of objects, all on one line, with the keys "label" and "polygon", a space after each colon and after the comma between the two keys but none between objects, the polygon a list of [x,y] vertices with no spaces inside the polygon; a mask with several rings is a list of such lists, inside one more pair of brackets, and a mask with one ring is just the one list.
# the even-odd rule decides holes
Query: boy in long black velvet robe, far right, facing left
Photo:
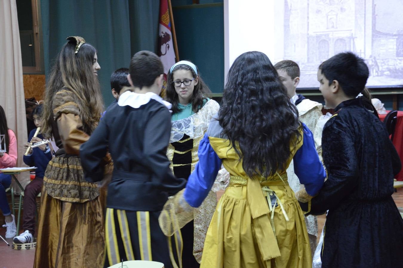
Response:
[{"label": "boy in long black velvet robe, far right, facing left", "polygon": [[318,70],[319,90],[334,115],[323,129],[328,180],[300,203],[307,214],[328,210],[322,267],[400,267],[403,220],[393,201],[393,177],[401,169],[384,123],[366,98],[368,67],[353,53],[339,53]]}]

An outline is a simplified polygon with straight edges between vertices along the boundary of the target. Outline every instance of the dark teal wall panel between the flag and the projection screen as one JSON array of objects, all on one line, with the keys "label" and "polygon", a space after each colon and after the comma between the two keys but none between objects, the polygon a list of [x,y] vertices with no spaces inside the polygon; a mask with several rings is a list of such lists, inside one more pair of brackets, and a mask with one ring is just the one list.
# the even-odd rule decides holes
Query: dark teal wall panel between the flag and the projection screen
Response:
[{"label": "dark teal wall panel between the flag and the projection screen", "polygon": [[[246,1],[247,2],[247,1]],[[193,61],[213,92],[224,90],[224,3],[172,0],[179,58]]]}]

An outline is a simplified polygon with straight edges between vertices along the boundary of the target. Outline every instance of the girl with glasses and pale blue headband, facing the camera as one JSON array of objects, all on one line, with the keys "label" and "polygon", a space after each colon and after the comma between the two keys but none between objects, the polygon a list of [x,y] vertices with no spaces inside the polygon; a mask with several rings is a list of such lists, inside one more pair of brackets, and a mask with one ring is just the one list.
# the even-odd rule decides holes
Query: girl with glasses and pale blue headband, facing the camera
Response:
[{"label": "girl with glasses and pale blue headband, facing the camera", "polygon": [[[209,93],[211,91],[202,80],[199,69],[191,61],[179,61],[170,68],[166,100],[172,103],[172,128],[167,155],[177,178],[188,178],[194,170],[199,161],[199,143],[220,108],[215,100],[208,98]],[[178,253],[183,267],[199,267],[208,223],[216,203],[216,194],[210,191],[206,201],[195,211],[194,221],[180,230],[181,235],[174,234],[173,242],[183,238],[183,243],[179,243],[183,250]]]}]

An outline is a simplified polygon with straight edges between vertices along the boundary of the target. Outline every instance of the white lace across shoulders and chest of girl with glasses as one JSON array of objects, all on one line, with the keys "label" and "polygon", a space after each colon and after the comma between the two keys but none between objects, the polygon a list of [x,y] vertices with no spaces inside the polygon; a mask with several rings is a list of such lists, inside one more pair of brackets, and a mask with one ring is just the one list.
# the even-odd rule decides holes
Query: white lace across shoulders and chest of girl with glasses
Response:
[{"label": "white lace across shoulders and chest of girl with glasses", "polygon": [[215,100],[208,100],[197,113],[190,117],[172,121],[171,138],[169,142],[179,141],[183,135],[191,139],[203,136],[214,115],[218,112],[220,105]]}]

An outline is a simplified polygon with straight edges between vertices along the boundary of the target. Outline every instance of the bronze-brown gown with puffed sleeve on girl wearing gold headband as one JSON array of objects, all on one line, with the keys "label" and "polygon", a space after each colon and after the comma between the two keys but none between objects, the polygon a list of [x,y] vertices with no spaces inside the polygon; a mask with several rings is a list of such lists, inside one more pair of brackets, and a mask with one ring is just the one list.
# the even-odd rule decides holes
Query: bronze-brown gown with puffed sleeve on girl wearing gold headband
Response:
[{"label": "bronze-brown gown with puffed sleeve on girl wearing gold headband", "polygon": [[106,192],[84,179],[79,147],[83,131],[73,93],[53,99],[53,134],[60,149],[44,175],[34,267],[102,267]]}]

